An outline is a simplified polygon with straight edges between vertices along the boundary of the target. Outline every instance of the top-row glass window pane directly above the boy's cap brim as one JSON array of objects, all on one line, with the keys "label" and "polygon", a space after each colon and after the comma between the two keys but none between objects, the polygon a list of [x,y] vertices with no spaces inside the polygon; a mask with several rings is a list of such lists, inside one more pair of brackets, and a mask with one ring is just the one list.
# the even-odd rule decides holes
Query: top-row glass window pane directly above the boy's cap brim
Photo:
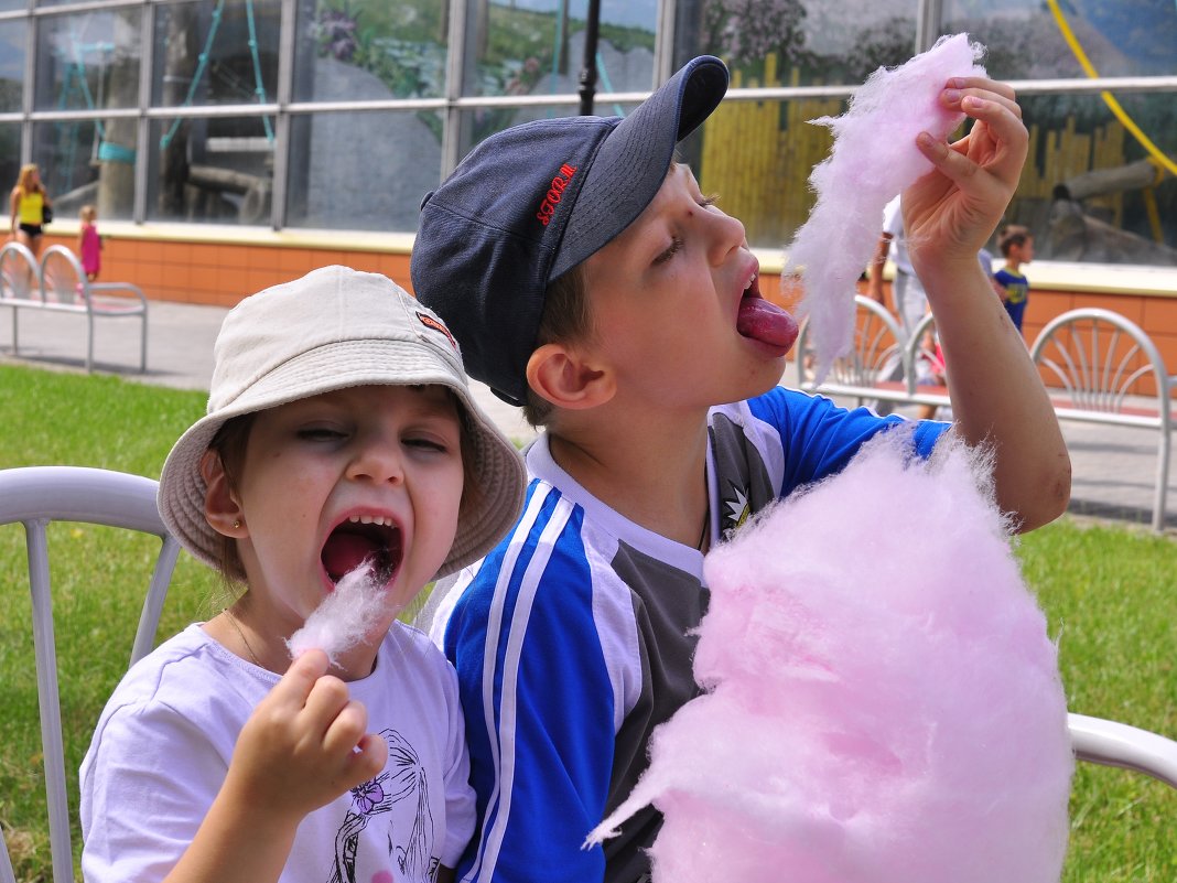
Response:
[{"label": "top-row glass window pane directly above the boy's cap brim", "polygon": [[737,86],[862,82],[916,47],[916,0],[685,0],[674,58],[719,55]]}]

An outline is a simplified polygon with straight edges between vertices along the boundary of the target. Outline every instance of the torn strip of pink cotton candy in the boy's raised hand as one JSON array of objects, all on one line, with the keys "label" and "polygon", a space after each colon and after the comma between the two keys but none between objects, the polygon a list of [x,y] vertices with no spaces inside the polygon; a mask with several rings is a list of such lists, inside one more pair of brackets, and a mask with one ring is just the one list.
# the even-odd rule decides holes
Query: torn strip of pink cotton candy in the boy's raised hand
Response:
[{"label": "torn strip of pink cotton candy in the boy's raised hand", "polygon": [[984,51],[967,34],[942,36],[905,65],[872,73],[843,115],[812,120],[833,130],[833,148],[810,174],[817,205],[786,251],[804,278],[799,312],[810,317],[818,380],[850,347],[855,281],[875,252],[884,206],[932,170],[916,137],[945,138],[960,124],[939,94],[951,77],[984,77],[976,64]]}]

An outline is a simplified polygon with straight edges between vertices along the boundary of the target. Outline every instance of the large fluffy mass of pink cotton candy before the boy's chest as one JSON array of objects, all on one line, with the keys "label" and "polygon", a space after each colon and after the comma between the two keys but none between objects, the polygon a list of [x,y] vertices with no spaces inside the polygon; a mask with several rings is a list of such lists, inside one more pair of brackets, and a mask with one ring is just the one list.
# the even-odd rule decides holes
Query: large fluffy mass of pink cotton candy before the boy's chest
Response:
[{"label": "large fluffy mass of pink cotton candy before the boy's chest", "polygon": [[590,839],[665,814],[654,883],[1049,883],[1073,765],[1057,649],[964,446],[905,432],[707,556],[696,677]]}]

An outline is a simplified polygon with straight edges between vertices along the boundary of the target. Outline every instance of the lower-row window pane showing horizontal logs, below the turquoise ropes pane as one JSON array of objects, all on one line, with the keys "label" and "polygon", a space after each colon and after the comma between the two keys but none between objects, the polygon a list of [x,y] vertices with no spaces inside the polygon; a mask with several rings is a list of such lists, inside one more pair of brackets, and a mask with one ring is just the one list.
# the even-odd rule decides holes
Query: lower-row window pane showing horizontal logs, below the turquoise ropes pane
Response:
[{"label": "lower-row window pane showing horizontal logs, below the turquoise ropes pane", "polygon": [[268,225],[274,137],[262,117],[152,120],[147,217]]}]

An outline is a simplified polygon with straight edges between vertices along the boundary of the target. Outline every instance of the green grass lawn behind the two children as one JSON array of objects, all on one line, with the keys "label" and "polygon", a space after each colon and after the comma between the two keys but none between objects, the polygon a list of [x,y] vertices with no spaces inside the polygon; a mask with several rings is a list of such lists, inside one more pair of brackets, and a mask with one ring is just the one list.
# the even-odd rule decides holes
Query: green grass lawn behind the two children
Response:
[{"label": "green grass lawn behind the two children", "polygon": [[[204,393],[0,365],[0,467],[72,464],[158,477],[204,404]],[[0,826],[18,881],[28,882],[48,879],[49,858],[24,542],[19,525],[0,527]],[[158,540],[54,525],[49,543],[77,816],[77,770],[131,653]],[[1068,518],[1025,537],[1018,556],[1059,638],[1071,710],[1177,735],[1177,543]],[[160,635],[207,618],[224,597],[212,573],[181,555]],[[1177,879],[1177,791],[1084,764],[1071,817],[1066,883]],[[74,838],[77,854],[77,829]]]}]

